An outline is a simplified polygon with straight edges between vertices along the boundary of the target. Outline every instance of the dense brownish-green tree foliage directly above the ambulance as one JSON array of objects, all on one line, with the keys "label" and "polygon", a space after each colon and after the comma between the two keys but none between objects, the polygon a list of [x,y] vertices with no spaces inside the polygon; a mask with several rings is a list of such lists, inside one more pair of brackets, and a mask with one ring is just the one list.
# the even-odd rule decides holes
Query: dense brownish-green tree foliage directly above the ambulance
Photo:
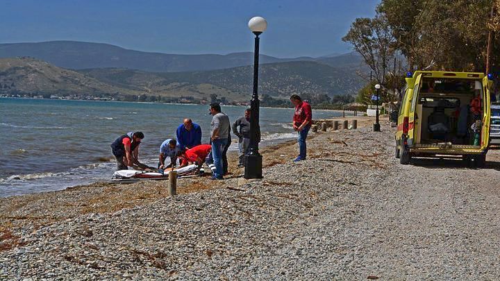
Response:
[{"label": "dense brownish-green tree foliage directly above the ambulance", "polygon": [[[410,70],[484,71],[489,28],[500,28],[490,12],[499,2],[382,0],[377,12],[387,18]],[[498,48],[492,53],[500,58]]]}]

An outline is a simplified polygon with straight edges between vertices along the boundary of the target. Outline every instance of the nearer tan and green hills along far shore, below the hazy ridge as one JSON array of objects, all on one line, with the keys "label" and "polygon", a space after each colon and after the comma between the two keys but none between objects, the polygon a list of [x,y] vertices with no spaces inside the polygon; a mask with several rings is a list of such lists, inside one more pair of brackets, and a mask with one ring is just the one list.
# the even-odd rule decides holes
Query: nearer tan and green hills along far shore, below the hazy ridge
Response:
[{"label": "nearer tan and green hills along far shore, below the hazy ridge", "polygon": [[[73,71],[33,58],[0,59],[0,94],[10,95],[78,94],[132,100],[147,95],[195,102],[210,100],[210,95],[216,94],[227,101],[241,102],[250,99],[252,77],[251,66],[175,73],[109,68]],[[363,85],[351,71],[319,62],[260,66],[260,94],[278,99],[290,94],[353,94]]]}]

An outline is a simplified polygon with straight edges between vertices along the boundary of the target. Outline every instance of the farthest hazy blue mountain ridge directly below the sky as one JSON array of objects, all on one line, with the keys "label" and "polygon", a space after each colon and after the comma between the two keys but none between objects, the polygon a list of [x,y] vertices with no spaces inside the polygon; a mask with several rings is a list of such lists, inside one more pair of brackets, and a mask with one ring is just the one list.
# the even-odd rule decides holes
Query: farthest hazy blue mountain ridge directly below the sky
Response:
[{"label": "farthest hazy blue mountain ridge directly below the sky", "polygon": [[[251,47],[251,46],[249,46]],[[50,62],[66,69],[126,68],[152,72],[204,71],[226,69],[253,64],[253,53],[230,53],[228,55],[177,55],[133,51],[110,44],[51,41],[39,43],[0,44],[0,58],[29,56]],[[260,55],[260,63],[317,61],[332,65],[337,56],[322,58],[275,58]],[[359,56],[352,56],[349,67],[356,62],[361,65]],[[344,67],[336,61],[335,67]]]}]

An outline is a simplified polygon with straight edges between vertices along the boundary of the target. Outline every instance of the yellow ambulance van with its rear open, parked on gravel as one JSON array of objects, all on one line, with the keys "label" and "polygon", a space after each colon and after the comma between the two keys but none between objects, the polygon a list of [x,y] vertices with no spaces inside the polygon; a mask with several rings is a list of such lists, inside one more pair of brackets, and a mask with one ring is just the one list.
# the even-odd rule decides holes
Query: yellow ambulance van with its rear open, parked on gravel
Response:
[{"label": "yellow ambulance van with its rear open, parked on gravel", "polygon": [[483,167],[490,143],[492,79],[474,72],[408,72],[395,136],[399,162],[456,157]]}]

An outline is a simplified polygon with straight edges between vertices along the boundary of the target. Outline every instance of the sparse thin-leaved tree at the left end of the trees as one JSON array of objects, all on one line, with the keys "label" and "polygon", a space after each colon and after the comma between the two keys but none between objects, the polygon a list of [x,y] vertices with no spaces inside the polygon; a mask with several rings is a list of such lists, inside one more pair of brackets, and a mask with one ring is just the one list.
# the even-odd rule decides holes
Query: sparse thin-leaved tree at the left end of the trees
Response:
[{"label": "sparse thin-leaved tree at the left end of the trees", "polygon": [[389,62],[394,58],[395,40],[383,14],[377,13],[374,19],[356,19],[342,41],[351,43],[363,56],[378,83],[385,83]]}]

